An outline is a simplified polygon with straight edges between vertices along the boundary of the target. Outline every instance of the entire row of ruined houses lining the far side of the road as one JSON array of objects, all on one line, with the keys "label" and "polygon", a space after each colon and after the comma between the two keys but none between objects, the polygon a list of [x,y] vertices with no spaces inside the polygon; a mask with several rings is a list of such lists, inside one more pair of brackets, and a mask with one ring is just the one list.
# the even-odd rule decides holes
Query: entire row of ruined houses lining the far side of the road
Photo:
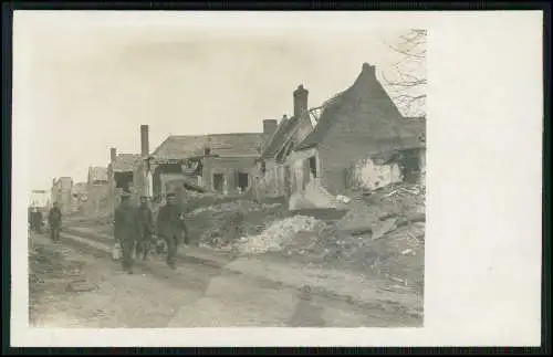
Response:
[{"label": "entire row of ruined houses lining the far side of the road", "polygon": [[353,85],[321,106],[310,108],[307,99],[300,85],[293,115],[263,120],[262,133],[173,135],[153,153],[142,125],[140,154],[112,148],[109,164],[91,167],[87,182],[54,181],[53,200],[92,213],[113,210],[123,190],[159,203],[167,191],[190,189],[259,200],[315,189],[322,198],[419,180],[426,171],[426,119],[400,114],[374,66],[364,63]]}]

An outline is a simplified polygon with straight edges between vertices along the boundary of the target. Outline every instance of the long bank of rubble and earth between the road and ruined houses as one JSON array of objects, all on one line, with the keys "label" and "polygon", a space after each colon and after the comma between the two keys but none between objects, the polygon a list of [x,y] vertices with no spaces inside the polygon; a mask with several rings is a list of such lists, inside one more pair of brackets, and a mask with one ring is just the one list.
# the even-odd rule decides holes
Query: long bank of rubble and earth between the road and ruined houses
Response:
[{"label": "long bank of rubble and earth between the road and ruined houses", "polygon": [[191,217],[210,212],[215,223],[204,232],[200,246],[241,255],[280,254],[309,264],[375,273],[421,290],[425,188],[390,185],[371,195],[347,192],[341,200],[347,211],[334,214],[338,219],[314,218],[312,209],[290,217],[282,207],[280,212],[274,210],[274,204],[255,220],[252,213],[263,211],[259,203],[238,201],[202,208]]}]

